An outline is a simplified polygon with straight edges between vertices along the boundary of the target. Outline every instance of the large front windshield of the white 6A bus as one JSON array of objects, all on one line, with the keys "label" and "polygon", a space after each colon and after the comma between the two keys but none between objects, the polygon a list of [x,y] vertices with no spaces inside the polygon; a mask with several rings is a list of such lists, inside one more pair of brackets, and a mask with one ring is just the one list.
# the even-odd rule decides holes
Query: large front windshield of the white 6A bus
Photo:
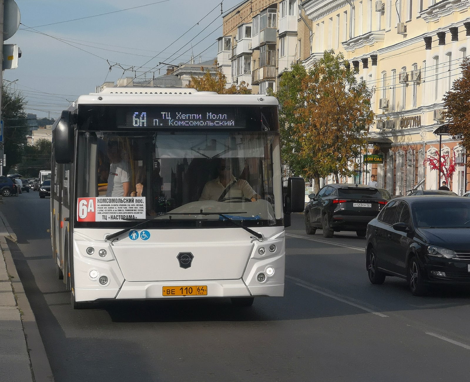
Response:
[{"label": "large front windshield of the white 6A bus", "polygon": [[[227,222],[219,213],[244,225],[276,225],[282,219],[281,190],[273,185],[280,184],[280,168],[273,166],[278,155],[277,132],[82,131],[76,196],[136,197],[145,203],[139,218],[162,222],[184,225],[200,221],[202,212],[221,226]],[[126,220],[123,212],[116,221]]]}]

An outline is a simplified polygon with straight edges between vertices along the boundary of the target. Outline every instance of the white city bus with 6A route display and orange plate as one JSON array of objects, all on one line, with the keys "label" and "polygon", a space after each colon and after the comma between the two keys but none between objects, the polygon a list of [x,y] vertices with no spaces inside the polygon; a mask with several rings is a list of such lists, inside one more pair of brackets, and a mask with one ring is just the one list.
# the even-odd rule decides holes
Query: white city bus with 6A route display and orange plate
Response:
[{"label": "white city bus with 6A route display and orange plate", "polygon": [[[106,88],[63,111],[52,144],[52,247],[75,309],[283,295],[284,227],[304,208],[304,181],[290,178],[283,197],[274,97]],[[220,163],[233,190],[243,180],[256,196],[229,185],[200,200]]]}]

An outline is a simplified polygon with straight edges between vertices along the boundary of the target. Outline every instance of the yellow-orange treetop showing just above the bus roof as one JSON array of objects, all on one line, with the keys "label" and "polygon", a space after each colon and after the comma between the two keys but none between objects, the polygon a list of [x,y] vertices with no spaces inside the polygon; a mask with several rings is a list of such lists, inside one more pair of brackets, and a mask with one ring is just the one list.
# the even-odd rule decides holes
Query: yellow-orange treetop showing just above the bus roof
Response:
[{"label": "yellow-orange treetop showing just above the bus roof", "polygon": [[[214,64],[217,66],[217,60]],[[218,94],[251,94],[251,90],[247,88],[245,81],[241,81],[238,85],[233,84],[229,88],[226,88],[227,77],[222,72],[220,66],[217,66],[215,74],[211,73],[209,69],[204,71],[204,67],[202,66],[201,71],[204,72],[204,76],[191,76],[188,88],[195,88],[197,91],[217,92]]]}]

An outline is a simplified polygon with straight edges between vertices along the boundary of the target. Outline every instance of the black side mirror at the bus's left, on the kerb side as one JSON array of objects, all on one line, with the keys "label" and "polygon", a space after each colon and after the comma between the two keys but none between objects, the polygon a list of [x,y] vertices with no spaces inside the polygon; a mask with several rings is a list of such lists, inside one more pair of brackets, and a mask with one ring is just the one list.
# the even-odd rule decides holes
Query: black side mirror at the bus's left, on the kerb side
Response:
[{"label": "black side mirror at the bus's left, on the kerb side", "polygon": [[64,110],[53,131],[54,156],[57,163],[73,162],[73,123],[74,114]]}]

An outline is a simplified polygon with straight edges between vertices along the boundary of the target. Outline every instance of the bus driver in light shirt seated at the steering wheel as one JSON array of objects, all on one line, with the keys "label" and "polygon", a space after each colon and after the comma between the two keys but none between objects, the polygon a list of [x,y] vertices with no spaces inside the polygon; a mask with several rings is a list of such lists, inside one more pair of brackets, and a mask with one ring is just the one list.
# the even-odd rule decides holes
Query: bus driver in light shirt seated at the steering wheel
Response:
[{"label": "bus driver in light shirt seated at the steering wheel", "polygon": [[229,162],[221,159],[217,166],[219,176],[204,185],[199,200],[222,200],[224,198],[246,198],[256,201],[261,197],[246,180],[236,180]]}]

